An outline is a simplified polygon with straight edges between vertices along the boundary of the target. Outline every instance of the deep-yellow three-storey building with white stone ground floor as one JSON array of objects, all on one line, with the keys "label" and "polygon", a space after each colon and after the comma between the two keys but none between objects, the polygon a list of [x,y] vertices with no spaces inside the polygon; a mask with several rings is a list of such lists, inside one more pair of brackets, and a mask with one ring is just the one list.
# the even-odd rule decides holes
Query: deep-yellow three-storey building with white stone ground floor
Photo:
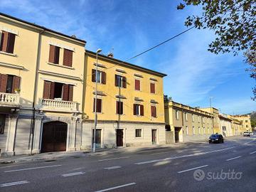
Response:
[{"label": "deep-yellow three-storey building with white stone ground floor", "polygon": [[[85,118],[87,149],[92,145],[95,119],[96,53],[86,50]],[[99,55],[97,73],[98,148],[165,144],[163,73]]]}]

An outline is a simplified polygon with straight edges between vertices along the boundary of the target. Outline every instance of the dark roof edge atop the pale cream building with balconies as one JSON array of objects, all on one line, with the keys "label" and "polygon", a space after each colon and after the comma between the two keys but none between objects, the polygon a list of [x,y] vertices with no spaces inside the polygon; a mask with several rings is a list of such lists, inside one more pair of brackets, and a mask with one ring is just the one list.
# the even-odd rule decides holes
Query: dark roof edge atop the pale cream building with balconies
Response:
[{"label": "dark roof edge atop the pale cream building with balconies", "polygon": [[37,27],[37,28],[41,28],[42,30],[49,31],[50,33],[55,33],[55,34],[58,34],[58,35],[60,35],[60,36],[64,36],[64,37],[66,37],[66,38],[73,39],[73,40],[75,40],[75,41],[80,41],[81,43],[86,43],[85,40],[82,40],[82,39],[79,39],[79,38],[75,38],[75,37],[72,37],[72,36],[68,36],[68,35],[65,35],[65,34],[63,34],[63,33],[60,33],[60,32],[58,32],[58,31],[53,31],[53,30],[50,29],[50,28],[46,28],[46,27],[44,27],[44,26],[39,26],[39,25],[37,25],[37,24],[35,24],[35,23],[31,23],[31,22],[28,22],[28,21],[24,21],[24,20],[22,20],[22,19],[20,19],[20,18],[14,17],[14,16],[10,16],[10,15],[7,15],[7,14],[1,13],[1,12],[0,12],[0,16],[4,16],[4,17],[7,17],[7,18],[11,18],[11,19],[14,19],[14,20],[19,21],[19,22],[22,22],[22,23],[26,23],[26,24],[31,25],[31,26],[35,26],[35,27]]}]

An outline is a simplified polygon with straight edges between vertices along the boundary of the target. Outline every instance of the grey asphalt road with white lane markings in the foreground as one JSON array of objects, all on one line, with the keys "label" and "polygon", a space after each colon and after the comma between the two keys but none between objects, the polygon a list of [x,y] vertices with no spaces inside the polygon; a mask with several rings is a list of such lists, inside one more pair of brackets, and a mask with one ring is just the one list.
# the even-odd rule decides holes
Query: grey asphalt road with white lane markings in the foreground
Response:
[{"label": "grey asphalt road with white lane markings in the foreground", "polygon": [[0,166],[0,191],[256,191],[256,137]]}]

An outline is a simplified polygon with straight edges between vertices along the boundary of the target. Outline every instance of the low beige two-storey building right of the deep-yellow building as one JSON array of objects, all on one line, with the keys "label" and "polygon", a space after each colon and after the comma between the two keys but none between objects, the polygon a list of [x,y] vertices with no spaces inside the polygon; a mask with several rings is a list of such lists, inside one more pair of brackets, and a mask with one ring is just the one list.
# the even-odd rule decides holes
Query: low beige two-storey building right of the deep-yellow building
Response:
[{"label": "low beige two-storey building right of the deep-yellow building", "polygon": [[178,102],[165,103],[166,142],[208,139],[213,134],[213,114]]}]

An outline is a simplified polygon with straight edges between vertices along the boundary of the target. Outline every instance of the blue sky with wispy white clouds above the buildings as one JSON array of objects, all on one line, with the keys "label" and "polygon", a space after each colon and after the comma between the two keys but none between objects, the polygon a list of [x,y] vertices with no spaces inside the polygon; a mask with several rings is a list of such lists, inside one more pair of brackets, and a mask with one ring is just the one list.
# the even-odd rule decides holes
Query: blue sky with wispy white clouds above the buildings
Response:
[{"label": "blue sky with wispy white clouds above the buildings", "polygon": [[[186,30],[189,15],[201,8],[177,10],[181,0],[1,0],[0,11],[87,41],[85,49],[114,53],[127,60]],[[225,114],[256,111],[255,80],[245,71],[242,53],[215,55],[208,44],[213,31],[192,29],[129,63],[166,73],[164,94],[191,107],[213,107]]]}]

